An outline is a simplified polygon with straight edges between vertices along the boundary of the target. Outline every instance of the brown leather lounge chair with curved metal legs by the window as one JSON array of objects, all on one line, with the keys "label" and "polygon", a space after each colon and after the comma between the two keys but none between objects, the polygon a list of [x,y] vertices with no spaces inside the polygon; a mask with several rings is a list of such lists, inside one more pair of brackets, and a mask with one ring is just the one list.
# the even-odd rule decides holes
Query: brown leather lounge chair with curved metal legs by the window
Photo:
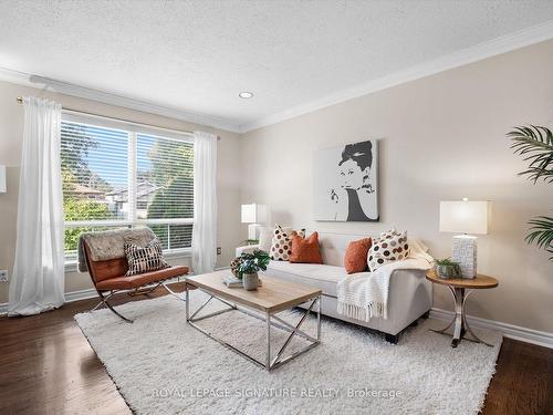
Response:
[{"label": "brown leather lounge chair with curved metal legs by the window", "polygon": [[91,276],[92,282],[94,283],[96,292],[102,299],[102,302],[97,304],[93,310],[97,309],[102,304],[105,304],[119,318],[122,318],[126,322],[132,323],[133,320],[127,319],[126,317],[117,312],[112,307],[112,304],[109,304],[108,300],[121,291],[127,291],[129,295],[147,294],[154,291],[159,286],[163,286],[169,293],[185,301],[178,295],[178,293],[174,292],[170,288],[167,287],[166,281],[175,277],[188,274],[188,267],[170,267],[157,271],[128,277],[125,274],[128,270],[126,257],[114,258],[104,261],[93,261],[93,257],[87,243],[84,240],[82,243],[88,273]]}]

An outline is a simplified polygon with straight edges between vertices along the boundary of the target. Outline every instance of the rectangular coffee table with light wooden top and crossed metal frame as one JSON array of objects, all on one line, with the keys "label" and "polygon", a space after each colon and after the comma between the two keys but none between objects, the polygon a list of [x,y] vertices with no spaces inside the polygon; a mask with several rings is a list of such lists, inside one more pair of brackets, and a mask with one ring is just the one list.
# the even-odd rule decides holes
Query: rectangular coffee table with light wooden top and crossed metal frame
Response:
[{"label": "rectangular coffee table with light wooden top and crossed metal frame", "polygon": [[[275,278],[262,276],[263,284],[255,291],[246,291],[242,288],[228,288],[222,282],[225,276],[228,276],[230,271],[216,271],[211,273],[205,273],[196,277],[187,277],[186,282],[186,321],[192,328],[199,330],[204,334],[219,342],[220,344],[229,347],[236,353],[244,356],[249,361],[271,371],[292,359],[299,356],[302,353],[313,349],[321,343],[321,290],[313,289],[310,287],[300,286],[296,283],[291,283],[282,281]],[[190,314],[189,310],[189,295],[190,289],[196,288],[200,291],[206,292],[209,298],[204,302],[204,304]],[[219,310],[209,314],[197,317],[198,313],[212,300],[216,299],[226,305],[227,309]],[[276,314],[309,302],[305,312],[301,315],[298,324],[292,325],[289,322],[282,320]],[[316,304],[316,336],[312,336],[302,330],[301,325],[304,323],[305,319],[309,317],[310,312]],[[196,324],[200,320],[205,320],[211,317],[216,317],[229,311],[241,311],[248,315],[254,317],[262,320],[267,324],[267,359],[264,362],[260,362],[257,359],[250,356],[249,354],[242,352],[241,350],[234,347],[233,345],[220,340],[208,331]],[[279,347],[276,354],[271,359],[271,328],[276,328],[284,330],[290,333],[284,343]],[[284,351],[294,338],[298,335],[305,339],[309,345],[302,350],[294,352],[284,356]]]}]

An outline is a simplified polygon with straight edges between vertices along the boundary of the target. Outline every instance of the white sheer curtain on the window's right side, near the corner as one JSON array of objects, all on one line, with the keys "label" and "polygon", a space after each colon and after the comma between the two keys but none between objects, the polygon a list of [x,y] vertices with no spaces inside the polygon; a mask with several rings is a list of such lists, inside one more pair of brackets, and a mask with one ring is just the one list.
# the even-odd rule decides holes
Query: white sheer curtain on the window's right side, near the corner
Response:
[{"label": "white sheer curtain on the window's right side, near the corner", "polygon": [[217,136],[194,133],[192,270],[211,272],[217,262]]}]

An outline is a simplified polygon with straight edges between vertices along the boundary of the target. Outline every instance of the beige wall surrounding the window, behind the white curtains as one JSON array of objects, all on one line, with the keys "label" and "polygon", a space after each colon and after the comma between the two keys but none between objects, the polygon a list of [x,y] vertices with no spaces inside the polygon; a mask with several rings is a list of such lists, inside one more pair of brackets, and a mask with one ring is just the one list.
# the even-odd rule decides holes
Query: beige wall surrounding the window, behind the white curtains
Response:
[{"label": "beige wall surrounding the window, behind the white curtains", "polygon": [[[178,120],[111,106],[94,101],[73,96],[48,93],[40,90],[0,82],[0,165],[8,166],[8,193],[0,194],[0,269],[13,267],[15,253],[15,221],[18,208],[19,166],[23,136],[23,107],[15,102],[18,96],[48,96],[63,106],[95,114],[119,117],[137,123],[150,124],[175,129],[202,129],[221,136],[218,144],[218,198],[219,232],[218,245],[222,255],[218,266],[227,266],[240,241],[240,201],[239,170],[236,160],[239,157],[238,134],[195,125]],[[174,263],[188,264],[189,259],[174,260]],[[0,283],[0,303],[8,301],[8,283]],[[87,274],[67,272],[65,292],[93,288]]]}]

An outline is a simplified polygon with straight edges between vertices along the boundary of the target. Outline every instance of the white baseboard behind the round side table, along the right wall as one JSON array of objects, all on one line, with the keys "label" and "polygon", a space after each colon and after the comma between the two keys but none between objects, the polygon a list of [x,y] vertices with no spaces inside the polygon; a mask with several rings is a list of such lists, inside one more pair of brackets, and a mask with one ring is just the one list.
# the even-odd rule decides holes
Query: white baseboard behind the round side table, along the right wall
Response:
[{"label": "white baseboard behind the round side table, along the right wall", "polygon": [[[437,308],[432,308],[430,310],[430,317],[446,321],[451,321],[453,319],[453,314],[455,313],[452,311]],[[521,328],[519,325],[502,323],[500,321],[481,319],[479,317],[468,315],[467,320],[469,321],[469,324],[474,328],[495,330],[501,332],[501,334],[508,339],[553,349],[553,333]]]}]

